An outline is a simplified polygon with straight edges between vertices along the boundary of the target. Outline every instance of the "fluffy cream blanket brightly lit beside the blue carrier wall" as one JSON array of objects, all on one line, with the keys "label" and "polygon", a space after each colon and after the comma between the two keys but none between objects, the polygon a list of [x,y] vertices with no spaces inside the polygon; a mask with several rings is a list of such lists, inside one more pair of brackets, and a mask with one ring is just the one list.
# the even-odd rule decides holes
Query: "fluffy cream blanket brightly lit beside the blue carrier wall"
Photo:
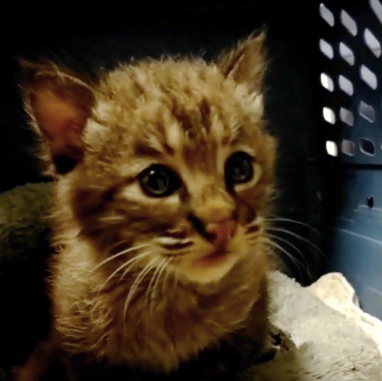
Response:
[{"label": "fluffy cream blanket brightly lit beside the blue carrier wall", "polygon": [[270,294],[279,350],[243,380],[382,380],[382,322],[354,304],[355,292],[341,274],[326,274],[304,288],[273,272]]}]

